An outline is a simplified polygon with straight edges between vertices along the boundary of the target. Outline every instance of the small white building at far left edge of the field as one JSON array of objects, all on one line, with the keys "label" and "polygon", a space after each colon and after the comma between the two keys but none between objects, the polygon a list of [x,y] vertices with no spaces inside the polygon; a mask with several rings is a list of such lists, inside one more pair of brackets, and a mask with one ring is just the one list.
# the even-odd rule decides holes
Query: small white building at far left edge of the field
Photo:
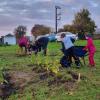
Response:
[{"label": "small white building at far left edge of the field", "polygon": [[12,34],[7,34],[3,37],[4,44],[15,45],[16,44],[16,37]]}]

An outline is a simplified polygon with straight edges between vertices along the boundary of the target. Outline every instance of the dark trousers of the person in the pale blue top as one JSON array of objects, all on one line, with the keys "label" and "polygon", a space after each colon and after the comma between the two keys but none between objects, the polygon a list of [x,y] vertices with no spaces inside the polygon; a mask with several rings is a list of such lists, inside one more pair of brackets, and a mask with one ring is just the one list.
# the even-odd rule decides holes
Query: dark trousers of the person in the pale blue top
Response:
[{"label": "dark trousers of the person in the pale blue top", "polygon": [[74,46],[69,48],[69,49],[67,49],[67,50],[65,50],[64,54],[67,57],[67,60],[70,62],[70,64],[72,63],[72,57],[73,57],[74,60],[75,60],[75,64],[77,66],[79,66],[80,61],[79,61],[79,58],[74,55]]}]

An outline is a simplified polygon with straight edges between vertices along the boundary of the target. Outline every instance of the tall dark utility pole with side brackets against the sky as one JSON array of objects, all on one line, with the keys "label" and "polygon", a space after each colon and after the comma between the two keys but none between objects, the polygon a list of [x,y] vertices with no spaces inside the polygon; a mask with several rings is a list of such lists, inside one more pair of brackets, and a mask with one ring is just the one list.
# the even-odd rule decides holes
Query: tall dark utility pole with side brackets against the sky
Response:
[{"label": "tall dark utility pole with side brackets against the sky", "polygon": [[58,13],[58,10],[61,8],[59,6],[55,6],[55,33],[58,32],[58,20],[61,19],[61,13]]}]

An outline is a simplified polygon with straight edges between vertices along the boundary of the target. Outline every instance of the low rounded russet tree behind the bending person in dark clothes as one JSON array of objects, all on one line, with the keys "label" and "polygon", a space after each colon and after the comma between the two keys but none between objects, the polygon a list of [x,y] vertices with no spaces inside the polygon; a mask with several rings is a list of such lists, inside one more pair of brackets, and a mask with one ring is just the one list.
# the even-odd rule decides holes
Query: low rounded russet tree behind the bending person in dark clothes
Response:
[{"label": "low rounded russet tree behind the bending person in dark clothes", "polygon": [[48,33],[50,33],[50,31],[51,31],[50,27],[36,24],[34,27],[32,27],[31,33],[32,33],[32,35],[34,35],[35,37],[37,37],[39,35],[48,34]]}]

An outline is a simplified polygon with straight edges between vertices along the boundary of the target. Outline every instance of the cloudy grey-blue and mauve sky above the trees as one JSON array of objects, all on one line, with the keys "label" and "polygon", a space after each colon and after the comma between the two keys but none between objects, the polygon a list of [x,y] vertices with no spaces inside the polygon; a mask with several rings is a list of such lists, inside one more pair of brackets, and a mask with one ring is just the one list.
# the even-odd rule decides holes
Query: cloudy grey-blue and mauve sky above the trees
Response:
[{"label": "cloudy grey-blue and mauve sky above the trees", "polygon": [[18,25],[27,26],[28,33],[34,24],[54,28],[55,5],[61,7],[59,27],[71,24],[74,14],[87,8],[100,28],[100,0],[0,0],[0,35],[12,33]]}]

